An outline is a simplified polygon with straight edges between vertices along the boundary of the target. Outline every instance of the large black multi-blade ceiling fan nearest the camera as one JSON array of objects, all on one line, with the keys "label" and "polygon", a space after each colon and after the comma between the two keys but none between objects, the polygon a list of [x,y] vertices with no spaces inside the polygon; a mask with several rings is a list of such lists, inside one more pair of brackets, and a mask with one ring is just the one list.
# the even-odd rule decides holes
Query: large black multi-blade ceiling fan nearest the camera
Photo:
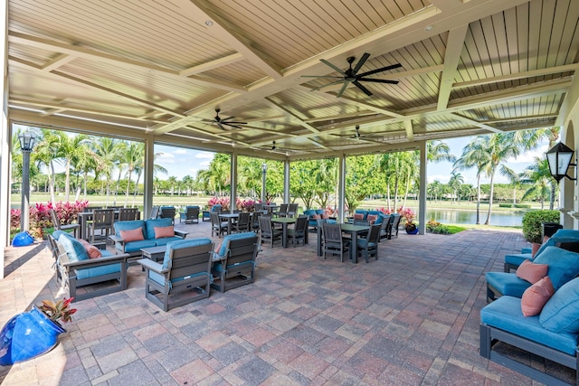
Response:
[{"label": "large black multi-blade ceiling fan nearest the camera", "polygon": [[[339,84],[339,83],[344,82],[344,85],[337,93],[338,98],[342,96],[342,94],[344,93],[344,91],[346,90],[347,86],[350,83],[354,84],[358,89],[361,89],[362,91],[364,91],[365,95],[367,95],[368,97],[370,97],[372,95],[372,92],[370,92],[369,89],[366,89],[364,87],[364,85],[362,85],[362,83],[360,83],[362,81],[369,81],[369,82],[374,82],[374,83],[388,83],[388,84],[397,84],[398,83],[398,80],[383,80],[383,79],[365,78],[365,77],[368,75],[374,75],[375,73],[378,73],[378,72],[394,70],[394,69],[397,69],[399,67],[402,67],[402,64],[400,64],[400,63],[396,63],[396,64],[393,64],[390,66],[381,67],[379,69],[375,69],[372,71],[365,71],[365,72],[362,72],[359,74],[358,71],[360,71],[360,69],[364,65],[365,61],[367,61],[369,57],[370,57],[370,54],[365,52],[364,55],[362,55],[362,58],[360,58],[360,60],[356,63],[356,66],[354,68],[352,68],[352,63],[354,63],[356,58],[354,56],[348,57],[346,59],[346,61],[348,62],[349,67],[346,71],[342,71],[340,68],[338,68],[334,64],[330,63],[329,61],[326,61],[325,59],[320,59],[321,62],[323,62],[324,64],[327,64],[329,67],[331,67],[332,69],[339,72],[341,74],[341,76],[331,76],[331,75],[303,75],[303,76],[305,78],[338,79],[336,81],[328,83],[327,85],[318,87],[317,89],[322,89],[324,87],[327,87],[327,86],[330,86],[333,84]],[[316,90],[316,89],[312,89],[312,91],[313,90]]]}]

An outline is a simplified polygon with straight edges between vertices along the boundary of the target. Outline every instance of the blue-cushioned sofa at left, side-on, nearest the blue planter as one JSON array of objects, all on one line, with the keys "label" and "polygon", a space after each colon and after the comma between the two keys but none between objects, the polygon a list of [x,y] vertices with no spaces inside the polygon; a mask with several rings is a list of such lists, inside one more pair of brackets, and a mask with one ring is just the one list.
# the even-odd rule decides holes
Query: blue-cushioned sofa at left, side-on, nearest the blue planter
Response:
[{"label": "blue-cushioned sofa at left, side-on, nearest the blue planter", "polygon": [[[102,257],[90,259],[81,241],[69,233],[54,231],[51,237],[55,246],[52,252],[55,254],[56,278],[66,297],[74,297],[74,301],[79,301],[127,289],[128,254],[113,255],[107,250],[101,250]],[[100,285],[109,281],[115,284]],[[77,292],[79,288],[93,284],[100,286]]]}]

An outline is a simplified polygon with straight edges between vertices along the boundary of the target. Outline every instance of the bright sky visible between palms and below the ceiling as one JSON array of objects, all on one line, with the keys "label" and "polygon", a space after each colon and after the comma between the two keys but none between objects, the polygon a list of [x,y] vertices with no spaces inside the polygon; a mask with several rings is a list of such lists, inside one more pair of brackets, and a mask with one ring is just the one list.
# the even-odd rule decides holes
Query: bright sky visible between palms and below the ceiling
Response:
[{"label": "bright sky visible between palms and below the ceiling", "polygon": [[[474,137],[461,137],[445,139],[444,142],[451,147],[451,154],[459,157],[462,154],[463,147],[473,138]],[[519,155],[517,159],[509,159],[507,164],[515,172],[520,173],[525,170],[528,165],[533,163],[536,156],[545,157],[547,150],[547,143],[545,143],[543,146],[537,147],[536,150]],[[197,171],[209,167],[214,157],[214,153],[210,152],[160,145],[155,146],[155,153],[162,153],[162,155],[157,156],[155,163],[165,167],[168,172],[166,175],[157,175],[161,180],[165,180],[169,176],[175,176],[180,180],[187,174],[195,177]],[[447,184],[451,178],[452,169],[452,163],[450,162],[429,164],[427,169],[428,182],[432,183],[432,181],[438,180],[442,184]],[[477,176],[475,169],[461,170],[459,173],[462,175],[464,184],[476,186]],[[508,180],[498,174],[495,177],[495,182],[498,184],[507,184]],[[481,183],[489,183],[489,179],[482,178]]]}]

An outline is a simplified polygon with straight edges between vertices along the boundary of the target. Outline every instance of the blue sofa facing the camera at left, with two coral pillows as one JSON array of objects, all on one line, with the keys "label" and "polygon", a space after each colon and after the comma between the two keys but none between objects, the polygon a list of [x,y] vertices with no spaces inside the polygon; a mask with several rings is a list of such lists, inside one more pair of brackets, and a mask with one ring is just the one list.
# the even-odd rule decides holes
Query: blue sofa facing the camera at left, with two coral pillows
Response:
[{"label": "blue sofa facing the camera at left, with two coral pillows", "polygon": [[130,257],[142,255],[142,248],[159,247],[168,242],[185,239],[188,232],[176,230],[173,219],[148,219],[117,221],[113,224],[115,234],[109,236],[115,242],[118,253]]}]

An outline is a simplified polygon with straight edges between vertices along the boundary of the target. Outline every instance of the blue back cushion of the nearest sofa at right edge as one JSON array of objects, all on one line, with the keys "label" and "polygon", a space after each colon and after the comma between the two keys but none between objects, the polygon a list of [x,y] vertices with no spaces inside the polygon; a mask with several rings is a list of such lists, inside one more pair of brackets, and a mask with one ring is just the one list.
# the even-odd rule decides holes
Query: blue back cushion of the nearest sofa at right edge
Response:
[{"label": "blue back cushion of the nearest sofa at right edge", "polygon": [[539,322],[554,333],[579,333],[579,278],[565,283],[543,307]]}]

